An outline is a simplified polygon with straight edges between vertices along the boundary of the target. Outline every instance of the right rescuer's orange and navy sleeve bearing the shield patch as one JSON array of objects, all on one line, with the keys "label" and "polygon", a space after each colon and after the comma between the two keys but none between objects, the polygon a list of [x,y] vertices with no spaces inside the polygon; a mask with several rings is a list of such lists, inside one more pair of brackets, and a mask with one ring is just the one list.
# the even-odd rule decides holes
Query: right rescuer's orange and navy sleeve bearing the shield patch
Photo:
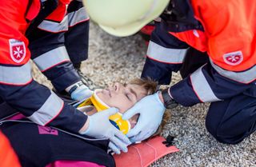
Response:
[{"label": "right rescuer's orange and navy sleeve bearing the shield patch", "polygon": [[208,34],[210,62],[172,86],[170,94],[187,106],[222,101],[240,93],[255,97],[255,22],[247,19],[254,18],[253,8],[246,9],[244,1],[194,2],[198,3],[195,13]]}]

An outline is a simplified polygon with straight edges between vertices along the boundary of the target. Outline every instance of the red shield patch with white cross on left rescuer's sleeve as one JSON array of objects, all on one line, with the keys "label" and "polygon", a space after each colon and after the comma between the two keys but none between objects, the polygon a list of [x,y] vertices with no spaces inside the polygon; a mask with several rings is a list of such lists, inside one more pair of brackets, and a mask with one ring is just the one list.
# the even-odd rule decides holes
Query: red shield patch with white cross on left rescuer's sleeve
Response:
[{"label": "red shield patch with white cross on left rescuer's sleeve", "polygon": [[17,63],[22,62],[26,57],[25,43],[17,39],[9,39],[10,58]]}]

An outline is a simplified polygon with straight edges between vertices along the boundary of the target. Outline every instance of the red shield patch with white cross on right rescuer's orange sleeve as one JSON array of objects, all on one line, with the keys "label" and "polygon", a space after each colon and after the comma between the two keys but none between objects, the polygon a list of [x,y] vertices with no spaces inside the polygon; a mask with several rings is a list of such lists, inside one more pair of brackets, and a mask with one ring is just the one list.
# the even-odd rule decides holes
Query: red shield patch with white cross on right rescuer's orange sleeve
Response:
[{"label": "red shield patch with white cross on right rescuer's orange sleeve", "polygon": [[239,50],[236,52],[230,52],[228,54],[224,54],[223,59],[224,59],[224,62],[226,62],[226,64],[231,66],[236,66],[240,64],[243,60],[242,51]]}]

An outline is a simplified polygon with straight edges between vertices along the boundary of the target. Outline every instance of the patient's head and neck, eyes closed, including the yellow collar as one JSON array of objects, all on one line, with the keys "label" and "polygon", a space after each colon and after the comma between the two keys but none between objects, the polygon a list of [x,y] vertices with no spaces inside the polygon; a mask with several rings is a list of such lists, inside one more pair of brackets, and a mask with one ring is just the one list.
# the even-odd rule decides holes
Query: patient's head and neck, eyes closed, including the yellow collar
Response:
[{"label": "patient's head and neck, eyes closed, including the yellow collar", "polygon": [[[78,102],[75,106],[89,116],[110,107],[119,109],[119,113],[116,114],[116,117],[111,116],[110,121],[126,134],[130,129],[134,128],[139,115],[134,115],[134,117],[131,117],[126,123],[126,121],[122,120],[122,113],[125,113],[127,109],[130,109],[135,105],[136,102],[142,99],[142,97],[146,97],[146,95],[154,93],[156,91],[156,87],[157,83],[150,79],[134,79],[124,85],[116,82],[107,89],[94,90],[92,97]],[[162,124],[155,134],[161,132],[162,126],[166,124],[169,117],[170,114],[165,113]]]}]

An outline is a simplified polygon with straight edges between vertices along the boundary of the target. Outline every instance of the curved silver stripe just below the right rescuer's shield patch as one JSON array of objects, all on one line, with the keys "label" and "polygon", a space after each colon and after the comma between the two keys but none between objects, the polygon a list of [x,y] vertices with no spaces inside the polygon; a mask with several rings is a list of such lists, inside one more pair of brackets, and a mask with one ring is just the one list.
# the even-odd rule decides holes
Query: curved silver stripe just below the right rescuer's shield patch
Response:
[{"label": "curved silver stripe just below the right rescuer's shield patch", "polygon": [[210,64],[214,67],[218,74],[221,74],[223,77],[229,78],[235,82],[250,83],[256,79],[256,66],[250,68],[250,70],[234,72],[222,69],[221,67],[215,65],[212,60],[210,60]]}]

